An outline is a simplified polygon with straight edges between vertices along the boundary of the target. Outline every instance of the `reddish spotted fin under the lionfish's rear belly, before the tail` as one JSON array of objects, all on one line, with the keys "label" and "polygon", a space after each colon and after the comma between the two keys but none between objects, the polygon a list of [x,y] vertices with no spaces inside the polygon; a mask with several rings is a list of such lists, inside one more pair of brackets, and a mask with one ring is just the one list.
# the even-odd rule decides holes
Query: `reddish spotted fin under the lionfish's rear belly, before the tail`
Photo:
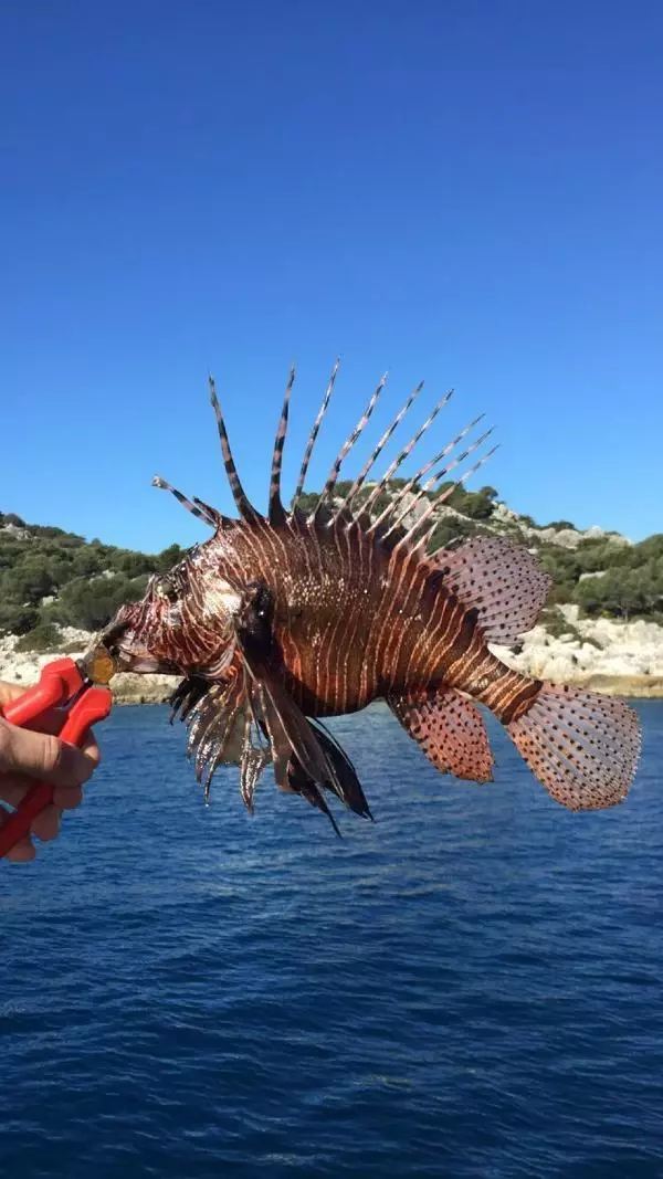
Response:
[{"label": "reddish spotted fin under the lionfish's rear belly, before the tail", "polygon": [[441,773],[467,782],[493,780],[493,755],[481,713],[452,687],[420,697],[387,697],[392,712]]}]

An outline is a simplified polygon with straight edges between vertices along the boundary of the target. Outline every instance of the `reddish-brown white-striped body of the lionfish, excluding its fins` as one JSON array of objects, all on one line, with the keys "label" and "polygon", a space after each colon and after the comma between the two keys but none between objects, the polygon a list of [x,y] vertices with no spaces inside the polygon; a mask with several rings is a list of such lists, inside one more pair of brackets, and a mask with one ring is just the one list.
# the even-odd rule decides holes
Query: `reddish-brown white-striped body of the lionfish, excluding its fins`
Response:
[{"label": "reddish-brown white-striped body of the lionfish, excluding its fins", "polygon": [[357,521],[229,522],[195,552],[192,606],[186,611],[186,598],[178,604],[185,625],[171,627],[168,599],[157,594],[151,604],[144,625],[159,665],[214,676],[231,633],[218,587],[232,598],[256,581],[274,595],[277,673],[307,716],[356,712],[393,692],[442,683],[501,716],[533,683],[490,652],[477,612],[438,569],[389,549]]}]

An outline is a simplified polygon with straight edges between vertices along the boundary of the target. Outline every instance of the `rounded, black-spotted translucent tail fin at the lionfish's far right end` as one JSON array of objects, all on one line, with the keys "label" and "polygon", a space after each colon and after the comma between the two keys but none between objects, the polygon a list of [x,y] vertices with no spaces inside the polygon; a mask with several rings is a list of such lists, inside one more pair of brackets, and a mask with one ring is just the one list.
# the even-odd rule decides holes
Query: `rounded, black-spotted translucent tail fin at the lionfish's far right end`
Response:
[{"label": "rounded, black-spotted translucent tail fin at the lionfish's far right end", "polygon": [[626,797],[641,750],[639,722],[623,700],[544,683],[506,731],[532,773],[569,810]]}]

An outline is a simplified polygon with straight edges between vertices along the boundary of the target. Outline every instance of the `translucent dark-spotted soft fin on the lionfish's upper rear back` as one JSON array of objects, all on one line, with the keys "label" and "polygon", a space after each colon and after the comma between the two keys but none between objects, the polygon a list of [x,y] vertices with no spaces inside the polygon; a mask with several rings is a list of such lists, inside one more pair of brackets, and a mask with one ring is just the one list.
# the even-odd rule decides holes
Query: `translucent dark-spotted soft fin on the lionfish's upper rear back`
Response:
[{"label": "translucent dark-spotted soft fin on the lionfish's upper rear back", "polygon": [[429,560],[445,587],[478,611],[484,637],[505,646],[532,630],[551,586],[536,556],[505,536],[473,536]]}]

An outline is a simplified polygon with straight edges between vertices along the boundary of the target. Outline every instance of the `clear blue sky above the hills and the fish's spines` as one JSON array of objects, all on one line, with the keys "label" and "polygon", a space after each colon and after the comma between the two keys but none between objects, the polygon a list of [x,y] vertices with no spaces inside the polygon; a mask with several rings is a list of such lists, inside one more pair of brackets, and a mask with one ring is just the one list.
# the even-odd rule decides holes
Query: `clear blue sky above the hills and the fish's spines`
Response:
[{"label": "clear blue sky above the hills and the fish's spines", "polygon": [[477,485],[663,531],[662,55],[654,0],[4,6],[0,508],[190,544],[208,371],[264,505],[341,354],[311,487],[389,369],[366,448],[453,386],[421,462],[485,410]]}]

